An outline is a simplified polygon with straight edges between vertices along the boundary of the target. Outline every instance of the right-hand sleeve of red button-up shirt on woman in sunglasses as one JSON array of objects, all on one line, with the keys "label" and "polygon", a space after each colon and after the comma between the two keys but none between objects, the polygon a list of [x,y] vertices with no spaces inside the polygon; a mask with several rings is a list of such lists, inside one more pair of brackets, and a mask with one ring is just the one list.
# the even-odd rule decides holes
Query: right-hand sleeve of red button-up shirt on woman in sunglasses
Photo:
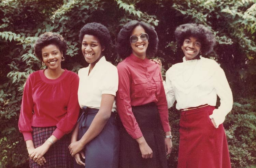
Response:
[{"label": "right-hand sleeve of red button-up shirt on woman in sunglasses", "polygon": [[[159,73],[160,79],[161,79],[161,73]],[[168,107],[167,107],[167,100],[165,95],[165,88],[163,87],[163,83],[160,82],[161,89],[160,94],[158,95],[158,101],[157,101],[157,108],[160,115],[160,119],[162,122],[162,127],[164,132],[171,131],[170,125],[169,125],[169,114],[168,114]]]}]

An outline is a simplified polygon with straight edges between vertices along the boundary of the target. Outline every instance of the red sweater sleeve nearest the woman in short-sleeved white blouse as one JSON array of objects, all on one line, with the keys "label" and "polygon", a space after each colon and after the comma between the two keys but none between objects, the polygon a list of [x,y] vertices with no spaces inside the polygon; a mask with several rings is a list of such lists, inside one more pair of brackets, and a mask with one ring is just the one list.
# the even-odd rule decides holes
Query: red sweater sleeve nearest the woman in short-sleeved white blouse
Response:
[{"label": "red sweater sleeve nearest the woman in short-sleeved white blouse", "polygon": [[[68,79],[71,81],[70,88],[71,93],[69,97],[69,102],[67,106],[67,113],[57,124],[57,128],[53,132],[57,139],[60,139],[63,135],[68,134],[72,131],[74,125],[76,124],[78,115],[79,115],[79,103],[78,103],[78,86],[79,86],[79,77],[77,74],[72,73],[71,77]],[[67,81],[68,82],[68,81]]]}]

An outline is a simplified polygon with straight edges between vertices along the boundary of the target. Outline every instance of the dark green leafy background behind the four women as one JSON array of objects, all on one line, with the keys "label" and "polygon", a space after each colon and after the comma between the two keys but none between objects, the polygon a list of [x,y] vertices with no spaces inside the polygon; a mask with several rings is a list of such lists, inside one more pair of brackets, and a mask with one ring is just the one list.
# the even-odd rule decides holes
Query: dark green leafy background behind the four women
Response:
[{"label": "dark green leafy background behind the four women", "polygon": [[[217,44],[205,57],[224,69],[234,104],[224,126],[232,167],[253,167],[256,161],[256,0],[2,0],[0,1],[0,167],[28,167],[28,155],[17,122],[24,83],[39,70],[33,43],[41,33],[57,32],[68,41],[62,67],[77,72],[87,66],[78,42],[88,22],[109,28],[112,42],[122,26],[133,19],[155,26],[159,37],[156,57],[162,72],[182,61],[174,30],[189,22],[203,24],[215,33]],[[108,60],[117,65],[114,45]],[[169,167],[177,165],[179,111],[169,110],[173,151]]]}]

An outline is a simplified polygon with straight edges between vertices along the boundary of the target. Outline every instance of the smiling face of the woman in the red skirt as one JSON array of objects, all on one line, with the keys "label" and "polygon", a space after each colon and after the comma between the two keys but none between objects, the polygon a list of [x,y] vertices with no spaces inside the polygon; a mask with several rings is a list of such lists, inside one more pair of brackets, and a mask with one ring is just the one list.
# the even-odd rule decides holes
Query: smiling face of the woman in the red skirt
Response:
[{"label": "smiling face of the woman in the red skirt", "polygon": [[196,37],[188,37],[184,40],[181,49],[185,54],[186,60],[195,59],[200,52],[201,43]]}]

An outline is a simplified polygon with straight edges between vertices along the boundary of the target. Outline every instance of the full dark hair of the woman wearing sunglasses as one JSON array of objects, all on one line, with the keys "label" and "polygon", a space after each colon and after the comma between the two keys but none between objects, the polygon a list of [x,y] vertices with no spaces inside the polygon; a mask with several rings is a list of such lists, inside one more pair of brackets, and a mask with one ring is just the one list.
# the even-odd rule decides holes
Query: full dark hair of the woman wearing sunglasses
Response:
[{"label": "full dark hair of the woman wearing sunglasses", "polygon": [[134,28],[141,26],[145,29],[145,32],[148,34],[148,47],[146,50],[146,56],[152,57],[155,56],[158,46],[158,37],[155,31],[155,28],[146,24],[143,21],[132,20],[129,21],[124,27],[120,30],[117,36],[116,49],[119,58],[126,58],[132,53],[132,48],[130,44],[130,36]]}]

